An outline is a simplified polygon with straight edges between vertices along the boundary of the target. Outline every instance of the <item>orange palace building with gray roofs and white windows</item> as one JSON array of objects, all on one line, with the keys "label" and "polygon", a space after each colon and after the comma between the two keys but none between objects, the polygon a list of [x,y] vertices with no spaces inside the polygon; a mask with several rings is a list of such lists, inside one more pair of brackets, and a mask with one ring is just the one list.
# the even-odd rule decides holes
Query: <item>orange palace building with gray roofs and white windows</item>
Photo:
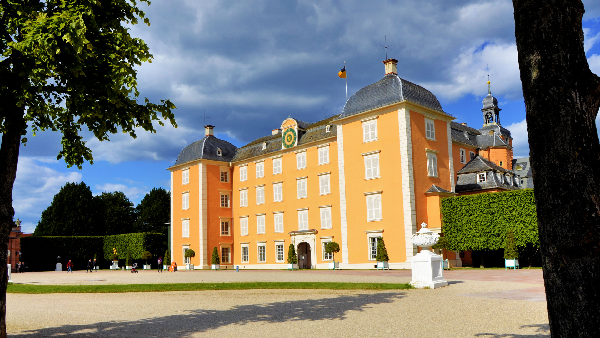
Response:
[{"label": "orange palace building with gray roofs and white windows", "polygon": [[[343,112],[316,123],[285,118],[272,134],[236,148],[206,126],[170,167],[171,259],[209,269],[327,268],[331,241],[343,269],[373,269],[377,239],[390,268],[410,268],[417,224],[442,232],[440,200],[521,188],[510,170],[512,138],[497,100],[484,99],[484,126],[455,123],[428,90],[397,75],[355,93]],[[521,164],[521,169],[525,170]],[[195,257],[184,258],[192,249]],[[458,253],[444,252],[461,266]]]}]

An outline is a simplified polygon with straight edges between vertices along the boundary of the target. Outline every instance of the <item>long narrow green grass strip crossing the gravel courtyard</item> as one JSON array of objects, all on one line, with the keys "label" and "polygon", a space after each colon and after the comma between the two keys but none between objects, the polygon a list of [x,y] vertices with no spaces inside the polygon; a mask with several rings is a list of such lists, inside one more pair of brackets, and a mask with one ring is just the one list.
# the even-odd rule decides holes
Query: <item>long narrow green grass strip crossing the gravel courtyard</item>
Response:
[{"label": "long narrow green grass strip crossing the gravel courtyard", "polygon": [[120,293],[204,290],[323,289],[323,290],[407,290],[409,283],[329,282],[244,282],[244,283],[160,283],[109,285],[9,284],[8,293]]}]

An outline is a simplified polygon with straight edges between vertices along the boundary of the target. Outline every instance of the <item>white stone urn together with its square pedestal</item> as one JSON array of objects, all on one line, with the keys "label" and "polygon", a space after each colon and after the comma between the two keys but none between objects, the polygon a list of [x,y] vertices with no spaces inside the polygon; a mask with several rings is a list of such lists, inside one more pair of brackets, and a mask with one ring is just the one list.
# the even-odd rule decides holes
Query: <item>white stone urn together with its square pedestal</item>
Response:
[{"label": "white stone urn together with its square pedestal", "polygon": [[429,250],[431,245],[436,245],[440,235],[427,229],[426,223],[421,223],[421,230],[412,236],[413,245],[421,247],[421,252],[412,257],[412,281],[410,285],[418,288],[429,287],[435,289],[448,285],[444,280],[442,256]]}]

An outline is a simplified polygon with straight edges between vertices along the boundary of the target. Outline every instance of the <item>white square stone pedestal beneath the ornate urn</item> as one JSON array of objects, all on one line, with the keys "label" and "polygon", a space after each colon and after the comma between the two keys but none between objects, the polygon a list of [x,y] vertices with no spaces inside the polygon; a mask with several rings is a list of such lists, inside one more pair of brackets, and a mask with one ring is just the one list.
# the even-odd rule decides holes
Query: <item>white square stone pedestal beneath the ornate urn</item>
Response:
[{"label": "white square stone pedestal beneath the ornate urn", "polygon": [[439,254],[421,250],[412,257],[410,266],[412,268],[410,285],[418,288],[430,287],[430,289],[448,285],[448,281],[443,277],[442,256]]}]

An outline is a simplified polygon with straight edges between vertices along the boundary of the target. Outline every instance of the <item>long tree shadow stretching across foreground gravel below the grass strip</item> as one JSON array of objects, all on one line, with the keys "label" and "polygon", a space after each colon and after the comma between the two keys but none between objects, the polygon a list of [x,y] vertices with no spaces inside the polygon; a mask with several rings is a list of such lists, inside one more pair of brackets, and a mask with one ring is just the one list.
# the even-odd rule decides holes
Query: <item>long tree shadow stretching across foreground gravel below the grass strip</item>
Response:
[{"label": "long tree shadow stretching across foreground gravel below the grass strip", "polygon": [[227,325],[245,325],[346,319],[349,311],[364,311],[371,306],[404,298],[403,292],[340,296],[317,300],[251,304],[228,310],[190,310],[180,315],[140,319],[137,321],[98,322],[88,325],[62,325],[40,330],[9,334],[11,338],[69,337],[154,337],[184,338]]}]

